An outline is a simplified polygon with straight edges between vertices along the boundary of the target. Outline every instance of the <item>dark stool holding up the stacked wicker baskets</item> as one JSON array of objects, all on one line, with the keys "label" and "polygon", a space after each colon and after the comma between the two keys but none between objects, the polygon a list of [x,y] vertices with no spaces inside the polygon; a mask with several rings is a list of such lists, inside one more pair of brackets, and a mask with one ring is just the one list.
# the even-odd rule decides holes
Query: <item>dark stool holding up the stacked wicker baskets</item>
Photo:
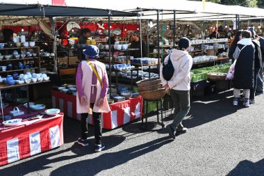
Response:
[{"label": "dark stool holding up the stacked wicker baskets", "polygon": [[[149,102],[156,102],[157,122],[155,122],[155,125],[160,125],[162,128],[164,128],[165,125],[163,123],[163,99],[156,99],[156,100],[143,99],[143,111],[146,108],[146,113],[144,113],[144,115],[142,116],[140,128],[145,129],[145,130],[147,129],[147,118],[148,118],[147,117],[147,111],[148,111]],[[160,109],[158,106],[158,102],[160,102]],[[161,122],[160,122],[160,118],[159,118],[159,110],[161,113]],[[145,125],[144,125],[144,118],[146,119]],[[143,125],[145,127],[142,127]]]}]

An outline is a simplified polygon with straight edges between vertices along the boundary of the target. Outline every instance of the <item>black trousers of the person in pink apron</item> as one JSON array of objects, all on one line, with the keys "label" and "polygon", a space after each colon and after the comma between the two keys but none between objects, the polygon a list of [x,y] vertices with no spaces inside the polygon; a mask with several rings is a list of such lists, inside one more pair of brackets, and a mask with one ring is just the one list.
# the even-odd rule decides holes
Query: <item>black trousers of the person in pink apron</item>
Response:
[{"label": "black trousers of the person in pink apron", "polygon": [[[91,107],[93,107],[94,104],[91,104]],[[87,139],[88,138],[88,113],[81,113],[81,138]],[[95,138],[95,144],[100,145],[101,144],[101,113],[95,113],[92,112],[92,116],[94,119],[94,138]]]}]

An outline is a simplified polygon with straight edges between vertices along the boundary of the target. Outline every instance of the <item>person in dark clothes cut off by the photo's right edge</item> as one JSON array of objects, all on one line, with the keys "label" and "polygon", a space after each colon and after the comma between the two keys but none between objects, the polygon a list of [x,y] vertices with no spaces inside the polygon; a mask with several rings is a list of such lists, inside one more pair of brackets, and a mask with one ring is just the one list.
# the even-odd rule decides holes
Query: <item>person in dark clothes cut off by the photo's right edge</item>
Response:
[{"label": "person in dark clothes cut off by the photo's right edge", "polygon": [[261,43],[261,56],[262,56],[262,67],[258,72],[258,77],[256,79],[256,95],[263,94],[263,65],[264,65],[264,38],[258,37]]}]

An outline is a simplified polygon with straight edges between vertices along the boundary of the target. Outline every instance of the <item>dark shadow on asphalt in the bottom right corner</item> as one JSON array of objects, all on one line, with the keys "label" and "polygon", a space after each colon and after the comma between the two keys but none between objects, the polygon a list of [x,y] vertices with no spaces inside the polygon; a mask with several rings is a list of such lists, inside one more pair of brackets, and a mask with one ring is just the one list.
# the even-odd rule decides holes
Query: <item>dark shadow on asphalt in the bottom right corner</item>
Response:
[{"label": "dark shadow on asphalt in the bottom right corner", "polygon": [[237,176],[237,175],[254,175],[261,176],[264,175],[264,159],[253,163],[252,161],[244,160],[238,163],[238,166],[230,171],[227,176]]}]

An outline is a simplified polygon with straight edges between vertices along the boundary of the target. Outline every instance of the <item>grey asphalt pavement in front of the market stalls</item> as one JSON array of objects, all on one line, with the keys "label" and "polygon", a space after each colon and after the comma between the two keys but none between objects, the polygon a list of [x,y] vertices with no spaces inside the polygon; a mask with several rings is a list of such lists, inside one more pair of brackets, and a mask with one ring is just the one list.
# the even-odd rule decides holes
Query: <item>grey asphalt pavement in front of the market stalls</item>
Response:
[{"label": "grey asphalt pavement in front of the market stalls", "polygon": [[201,97],[183,122],[188,133],[175,141],[134,122],[105,131],[101,153],[92,137],[89,147],[74,143],[79,122],[66,118],[65,145],[0,167],[0,175],[264,175],[263,97],[249,109],[231,106],[231,97]]}]

